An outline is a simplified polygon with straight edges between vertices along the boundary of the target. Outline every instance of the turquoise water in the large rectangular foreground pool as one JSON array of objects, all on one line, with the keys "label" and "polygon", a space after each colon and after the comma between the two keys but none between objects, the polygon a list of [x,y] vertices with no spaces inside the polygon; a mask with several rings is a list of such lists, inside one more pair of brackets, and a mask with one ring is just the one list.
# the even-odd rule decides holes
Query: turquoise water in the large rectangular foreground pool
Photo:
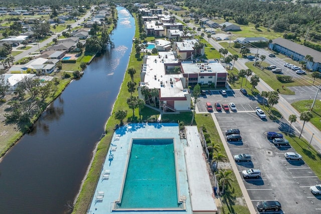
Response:
[{"label": "turquoise water in the large rectangular foreground pool", "polygon": [[177,208],[173,139],[133,139],[120,208]]}]

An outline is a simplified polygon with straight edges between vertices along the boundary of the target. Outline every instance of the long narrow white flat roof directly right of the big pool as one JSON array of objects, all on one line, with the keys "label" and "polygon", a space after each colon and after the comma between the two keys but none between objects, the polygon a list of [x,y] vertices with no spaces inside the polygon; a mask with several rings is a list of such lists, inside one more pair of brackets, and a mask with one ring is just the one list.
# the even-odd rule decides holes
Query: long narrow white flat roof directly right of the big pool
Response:
[{"label": "long narrow white flat roof directly right of the big pool", "polygon": [[197,126],[185,126],[187,176],[193,211],[217,211]]}]

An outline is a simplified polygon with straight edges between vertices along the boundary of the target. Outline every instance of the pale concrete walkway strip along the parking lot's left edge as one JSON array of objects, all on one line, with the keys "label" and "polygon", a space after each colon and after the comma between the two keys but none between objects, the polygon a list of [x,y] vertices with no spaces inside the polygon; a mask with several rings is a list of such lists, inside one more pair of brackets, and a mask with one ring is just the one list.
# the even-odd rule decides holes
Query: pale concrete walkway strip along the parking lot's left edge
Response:
[{"label": "pale concrete walkway strip along the parking lot's left edge", "polygon": [[219,125],[219,122],[217,121],[214,113],[211,114],[211,116],[212,116],[212,118],[213,118],[213,121],[214,121],[215,126],[216,126],[216,128],[217,128],[217,131],[218,131],[218,133],[219,133],[219,135],[220,135],[220,138],[221,138],[221,140],[222,140],[224,149],[225,149],[226,154],[227,154],[227,157],[229,158],[229,161],[230,161],[230,163],[231,163],[231,166],[232,166],[232,169],[233,169],[234,174],[235,174],[235,176],[236,176],[237,182],[239,183],[239,186],[240,186],[241,191],[242,191],[242,193],[243,193],[243,197],[244,197],[244,199],[245,199],[245,202],[246,202],[246,204],[247,204],[247,207],[249,208],[250,213],[255,214],[255,213],[256,213],[256,210],[255,210],[255,208],[254,208],[254,206],[253,206],[253,203],[252,203],[252,201],[251,201],[251,198],[250,198],[250,196],[249,196],[249,194],[248,194],[248,192],[247,192],[247,190],[246,190],[246,188],[245,188],[245,185],[244,185],[244,183],[243,183],[242,177],[241,177],[240,173],[238,172],[238,168],[237,168],[237,166],[236,166],[236,164],[235,164],[235,161],[234,161],[234,159],[233,159],[233,155],[232,155],[232,153],[231,153],[231,151],[230,151],[230,149],[229,149],[229,147],[228,147],[228,145],[227,145],[227,142],[226,142],[226,140],[225,140],[225,137],[224,137],[224,135],[223,135],[223,132],[222,132],[222,130],[221,130],[221,127],[220,127],[220,125]]}]

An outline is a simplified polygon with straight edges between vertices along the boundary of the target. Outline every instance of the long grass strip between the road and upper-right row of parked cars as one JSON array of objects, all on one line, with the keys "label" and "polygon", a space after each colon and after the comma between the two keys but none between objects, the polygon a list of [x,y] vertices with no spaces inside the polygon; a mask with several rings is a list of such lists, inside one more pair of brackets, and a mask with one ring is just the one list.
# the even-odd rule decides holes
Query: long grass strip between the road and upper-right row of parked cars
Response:
[{"label": "long grass strip between the road and upper-right row of parked cars", "polygon": [[[272,89],[274,89],[275,91],[277,91],[277,89],[279,89],[280,94],[294,94],[293,91],[291,91],[290,89],[288,89],[287,87],[289,86],[299,86],[301,85],[298,82],[291,82],[291,83],[281,83],[280,81],[278,81],[276,79],[276,75],[273,74],[271,71],[269,70],[260,70],[257,67],[253,66],[253,62],[248,62],[245,63],[245,65],[251,69],[256,75],[258,75],[264,82],[266,82]],[[284,87],[282,88],[282,85],[284,85]]]}]

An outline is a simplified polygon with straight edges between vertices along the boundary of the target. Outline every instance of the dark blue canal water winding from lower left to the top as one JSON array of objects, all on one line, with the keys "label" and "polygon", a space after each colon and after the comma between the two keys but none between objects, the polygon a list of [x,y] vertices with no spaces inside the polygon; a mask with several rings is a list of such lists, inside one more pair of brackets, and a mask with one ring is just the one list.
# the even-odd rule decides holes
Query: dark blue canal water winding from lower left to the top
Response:
[{"label": "dark blue canal water winding from lower left to the top", "polygon": [[135,33],[117,7],[115,48],[95,58],[0,163],[0,213],[67,213],[127,69]]}]

